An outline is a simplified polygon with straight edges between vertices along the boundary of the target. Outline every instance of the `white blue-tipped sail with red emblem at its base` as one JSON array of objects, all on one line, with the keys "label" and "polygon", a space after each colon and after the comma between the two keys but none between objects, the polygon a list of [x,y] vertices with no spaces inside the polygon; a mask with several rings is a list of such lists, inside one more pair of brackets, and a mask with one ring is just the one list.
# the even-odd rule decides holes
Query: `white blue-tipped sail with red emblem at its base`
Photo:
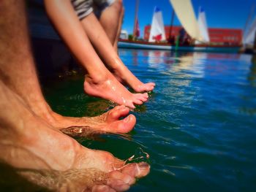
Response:
[{"label": "white blue-tipped sail with red emblem at its base", "polygon": [[165,40],[165,26],[162,20],[162,12],[158,7],[155,7],[148,41],[159,42]]}]

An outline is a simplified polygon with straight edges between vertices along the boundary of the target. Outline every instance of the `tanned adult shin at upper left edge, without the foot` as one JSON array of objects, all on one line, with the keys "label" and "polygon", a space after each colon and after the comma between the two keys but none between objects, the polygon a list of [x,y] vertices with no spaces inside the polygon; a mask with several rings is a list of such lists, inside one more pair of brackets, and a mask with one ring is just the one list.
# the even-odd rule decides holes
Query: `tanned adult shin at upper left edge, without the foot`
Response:
[{"label": "tanned adult shin at upper left edge, without the foot", "polygon": [[31,55],[25,5],[23,1],[14,0],[1,1],[0,4],[1,76],[32,110],[44,113],[48,107],[42,102],[44,97]]}]

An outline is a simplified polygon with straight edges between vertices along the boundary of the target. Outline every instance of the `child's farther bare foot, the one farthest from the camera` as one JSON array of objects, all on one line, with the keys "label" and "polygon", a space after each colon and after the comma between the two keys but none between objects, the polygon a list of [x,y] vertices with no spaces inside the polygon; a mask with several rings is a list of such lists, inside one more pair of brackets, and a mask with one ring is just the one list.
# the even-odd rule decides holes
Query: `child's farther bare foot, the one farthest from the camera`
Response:
[{"label": "child's farther bare foot, the one farthest from the camera", "polygon": [[156,85],[154,82],[143,83],[135,77],[132,72],[129,71],[127,66],[119,65],[116,69],[113,69],[113,74],[120,82],[124,82],[129,85],[136,92],[152,91]]}]

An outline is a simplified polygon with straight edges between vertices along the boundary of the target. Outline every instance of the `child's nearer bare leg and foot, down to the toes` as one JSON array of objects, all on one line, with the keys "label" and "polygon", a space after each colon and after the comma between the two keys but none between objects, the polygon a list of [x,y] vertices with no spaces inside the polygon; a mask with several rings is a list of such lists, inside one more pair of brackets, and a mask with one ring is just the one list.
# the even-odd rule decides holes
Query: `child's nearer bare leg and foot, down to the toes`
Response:
[{"label": "child's nearer bare leg and foot, down to the toes", "polygon": [[143,101],[146,101],[147,94],[130,93],[108,71],[83,30],[71,1],[45,0],[45,7],[61,37],[89,73],[84,83],[86,93],[131,108],[135,108],[134,104],[143,104]]}]

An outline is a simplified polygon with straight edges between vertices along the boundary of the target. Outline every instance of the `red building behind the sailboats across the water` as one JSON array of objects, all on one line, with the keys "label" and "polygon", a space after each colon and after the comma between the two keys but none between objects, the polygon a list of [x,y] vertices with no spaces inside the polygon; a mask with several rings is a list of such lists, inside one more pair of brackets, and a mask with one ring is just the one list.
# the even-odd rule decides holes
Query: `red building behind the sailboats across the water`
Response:
[{"label": "red building behind the sailboats across the water", "polygon": [[[148,41],[151,26],[145,26],[144,39]],[[181,26],[173,26],[171,36],[178,36]],[[210,42],[215,45],[241,45],[243,31],[234,28],[208,28]],[[170,38],[170,26],[165,26],[166,39]]]}]

